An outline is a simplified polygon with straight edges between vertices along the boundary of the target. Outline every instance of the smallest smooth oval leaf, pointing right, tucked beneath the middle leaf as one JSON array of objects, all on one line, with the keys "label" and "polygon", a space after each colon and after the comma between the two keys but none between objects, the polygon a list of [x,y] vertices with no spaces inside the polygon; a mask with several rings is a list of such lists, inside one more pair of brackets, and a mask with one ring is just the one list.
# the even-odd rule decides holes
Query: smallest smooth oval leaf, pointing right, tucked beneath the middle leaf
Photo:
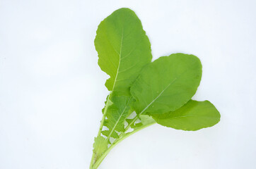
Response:
[{"label": "smallest smooth oval leaf, pointing right, tucked beneath the middle leaf", "polygon": [[153,115],[156,123],[178,130],[199,130],[219,123],[221,115],[209,101],[190,100],[176,111]]}]

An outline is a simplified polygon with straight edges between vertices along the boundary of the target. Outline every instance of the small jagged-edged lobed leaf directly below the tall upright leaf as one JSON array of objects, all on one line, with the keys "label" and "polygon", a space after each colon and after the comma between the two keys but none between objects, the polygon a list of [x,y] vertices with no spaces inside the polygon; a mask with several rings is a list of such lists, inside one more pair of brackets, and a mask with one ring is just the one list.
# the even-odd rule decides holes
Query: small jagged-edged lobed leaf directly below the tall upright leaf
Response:
[{"label": "small jagged-edged lobed leaf directly below the tall upright leaf", "polygon": [[107,119],[104,122],[108,130],[102,132],[107,138],[118,138],[117,132],[124,132],[124,120],[132,113],[129,106],[132,101],[132,96],[112,96],[112,105],[107,109]]}]

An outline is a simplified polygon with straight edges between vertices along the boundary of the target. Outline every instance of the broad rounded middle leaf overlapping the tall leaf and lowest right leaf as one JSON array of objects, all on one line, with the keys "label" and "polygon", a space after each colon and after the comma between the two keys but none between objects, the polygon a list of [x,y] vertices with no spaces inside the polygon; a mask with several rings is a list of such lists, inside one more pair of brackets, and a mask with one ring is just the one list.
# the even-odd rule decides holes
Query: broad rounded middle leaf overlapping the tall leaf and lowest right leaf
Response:
[{"label": "broad rounded middle leaf overlapping the tall leaf and lowest right leaf", "polygon": [[136,113],[175,111],[197,91],[202,65],[197,56],[171,54],[147,65],[131,87]]}]

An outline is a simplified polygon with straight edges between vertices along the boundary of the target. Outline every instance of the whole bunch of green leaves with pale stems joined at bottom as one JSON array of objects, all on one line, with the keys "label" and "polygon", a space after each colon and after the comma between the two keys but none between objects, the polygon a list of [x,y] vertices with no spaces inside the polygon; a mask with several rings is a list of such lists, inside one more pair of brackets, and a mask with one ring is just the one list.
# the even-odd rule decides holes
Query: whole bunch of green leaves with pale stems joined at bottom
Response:
[{"label": "whole bunch of green leaves with pale stems joined at bottom", "polygon": [[[178,130],[199,130],[219,122],[209,101],[194,101],[202,65],[197,56],[171,54],[152,60],[151,44],[134,11],[120,8],[98,26],[98,65],[110,78],[90,168],[131,134],[158,123]],[[135,113],[134,113],[135,112]]]}]

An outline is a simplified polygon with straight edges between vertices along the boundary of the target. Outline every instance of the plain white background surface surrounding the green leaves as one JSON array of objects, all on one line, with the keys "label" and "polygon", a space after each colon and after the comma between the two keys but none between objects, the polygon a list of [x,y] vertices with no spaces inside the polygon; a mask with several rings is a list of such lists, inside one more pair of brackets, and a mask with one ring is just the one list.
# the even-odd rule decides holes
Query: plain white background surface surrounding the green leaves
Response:
[{"label": "plain white background surface surrounding the green leaves", "polygon": [[0,168],[85,169],[98,132],[107,75],[98,24],[129,7],[153,59],[198,56],[194,99],[221,122],[197,132],[153,125],[112,149],[100,169],[256,168],[256,1],[0,1]]}]

